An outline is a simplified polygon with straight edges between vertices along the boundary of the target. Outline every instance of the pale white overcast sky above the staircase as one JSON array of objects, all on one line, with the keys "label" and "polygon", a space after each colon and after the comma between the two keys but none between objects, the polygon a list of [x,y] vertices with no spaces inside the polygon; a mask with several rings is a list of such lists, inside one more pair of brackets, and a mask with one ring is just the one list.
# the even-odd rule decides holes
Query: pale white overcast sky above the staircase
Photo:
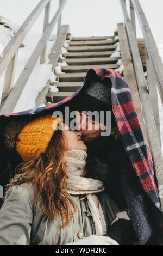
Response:
[{"label": "pale white overcast sky above the staircase", "polygon": [[[40,0],[0,0],[0,15],[22,25],[23,21]],[[127,0],[127,4],[128,4]],[[51,1],[51,17],[58,9],[59,0]],[[140,0],[142,8],[151,27],[156,44],[163,44],[163,1]],[[41,32],[43,14],[37,19],[32,31]],[[70,25],[73,36],[107,36],[113,35],[118,22],[123,22],[119,0],[68,0],[62,13],[62,24]],[[57,26],[56,26],[57,27]],[[55,33],[56,29],[54,29]],[[141,37],[137,26],[137,37]]]}]

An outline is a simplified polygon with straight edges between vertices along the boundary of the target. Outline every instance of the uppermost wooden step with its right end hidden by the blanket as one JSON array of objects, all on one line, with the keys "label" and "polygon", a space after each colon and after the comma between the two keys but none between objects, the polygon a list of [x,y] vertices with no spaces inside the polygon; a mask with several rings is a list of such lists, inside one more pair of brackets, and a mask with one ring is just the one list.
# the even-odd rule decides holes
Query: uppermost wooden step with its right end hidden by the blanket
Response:
[{"label": "uppermost wooden step with its right end hidden by the blanket", "polygon": [[86,72],[57,74],[58,82],[80,82],[84,81],[85,76]]}]

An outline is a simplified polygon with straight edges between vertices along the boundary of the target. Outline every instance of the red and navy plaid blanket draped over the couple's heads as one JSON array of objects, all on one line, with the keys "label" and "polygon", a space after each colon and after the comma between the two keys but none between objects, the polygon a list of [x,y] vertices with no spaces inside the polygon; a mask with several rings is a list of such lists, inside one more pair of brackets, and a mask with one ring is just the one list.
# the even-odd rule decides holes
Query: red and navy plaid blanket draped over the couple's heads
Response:
[{"label": "red and navy plaid blanket draped over the couple's heads", "polygon": [[143,192],[145,192],[151,200],[154,209],[159,211],[159,214],[162,216],[158,189],[154,179],[154,166],[151,150],[146,139],[143,137],[129,86],[116,71],[104,68],[90,69],[87,71],[83,86],[71,96],[46,107],[0,115],[1,124],[4,123],[5,126],[5,124],[9,123],[10,119],[18,120],[18,117],[20,116],[24,117],[24,119],[27,117],[34,118],[37,117],[37,115],[53,113],[55,109],[64,106],[71,106],[71,102],[82,94],[83,88],[89,86],[89,81],[95,78],[108,80],[108,83],[111,81],[112,112],[114,113],[118,129],[122,135],[122,143],[125,153],[131,166],[135,170],[135,174],[140,180]]}]

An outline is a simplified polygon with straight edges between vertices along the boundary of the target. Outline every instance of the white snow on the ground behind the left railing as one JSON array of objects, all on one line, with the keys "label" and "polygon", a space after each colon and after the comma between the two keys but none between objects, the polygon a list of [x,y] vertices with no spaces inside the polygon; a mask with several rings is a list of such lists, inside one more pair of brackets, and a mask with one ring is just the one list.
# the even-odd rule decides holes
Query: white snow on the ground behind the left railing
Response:
[{"label": "white snow on the ground behind the left railing", "polygon": [[[1,21],[2,21],[2,18],[1,18]],[[14,28],[12,26],[11,21],[8,21],[4,18],[3,18],[3,21],[5,22],[5,25],[8,25],[11,29],[6,28],[5,25],[0,26],[1,48],[2,47],[4,48],[8,44],[8,42],[11,40],[12,36],[14,36],[14,33],[17,30],[17,28]],[[20,47],[18,49],[18,58],[16,63],[14,84],[17,81],[17,78],[20,76],[30,55],[34,51],[37,45],[37,42],[39,42],[41,35],[42,34],[40,33],[34,33],[29,31],[26,38],[22,42],[24,44],[24,47]],[[37,60],[35,68],[32,74],[30,75],[29,80],[26,83],[26,86],[23,89],[22,95],[18,100],[13,113],[35,108],[36,97],[39,95],[39,92],[41,92],[41,90],[46,86],[46,83],[48,82],[48,80],[51,80],[51,82],[55,82],[56,76],[52,72],[52,65],[48,64],[49,62],[48,54],[55,42],[56,36],[57,36],[56,34],[52,34],[50,36],[47,42],[47,61],[46,63],[40,65],[40,58]],[[0,84],[1,84],[0,95],[2,95],[4,75],[5,75],[5,72],[3,72],[2,76],[0,77]]]}]

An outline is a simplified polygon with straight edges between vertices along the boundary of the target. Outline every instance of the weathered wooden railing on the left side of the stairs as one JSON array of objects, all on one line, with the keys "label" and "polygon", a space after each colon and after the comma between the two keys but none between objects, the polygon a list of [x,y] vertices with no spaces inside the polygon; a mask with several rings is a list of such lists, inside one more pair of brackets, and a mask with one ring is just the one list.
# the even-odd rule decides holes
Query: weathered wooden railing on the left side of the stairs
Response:
[{"label": "weathered wooden railing on the left side of the stairs", "polygon": [[[16,103],[21,96],[21,93],[26,86],[28,78],[33,71],[33,68],[40,57],[40,64],[46,62],[46,46],[49,35],[53,31],[55,24],[58,22],[58,32],[61,27],[61,13],[65,7],[67,0],[60,0],[59,8],[49,23],[49,11],[51,0],[41,0],[35,7],[32,13],[28,16],[23,25],[18,29],[17,33],[10,40],[9,44],[3,50],[3,56],[0,58],[0,76],[5,71],[5,78],[2,91],[2,101],[0,107],[0,114],[8,114],[14,111]],[[14,85],[15,66],[17,61],[18,48],[20,47],[23,39],[33,26],[41,11],[45,9],[43,34],[40,41],[36,45],[33,53],[26,66],[24,67],[21,75],[18,77]]]}]

